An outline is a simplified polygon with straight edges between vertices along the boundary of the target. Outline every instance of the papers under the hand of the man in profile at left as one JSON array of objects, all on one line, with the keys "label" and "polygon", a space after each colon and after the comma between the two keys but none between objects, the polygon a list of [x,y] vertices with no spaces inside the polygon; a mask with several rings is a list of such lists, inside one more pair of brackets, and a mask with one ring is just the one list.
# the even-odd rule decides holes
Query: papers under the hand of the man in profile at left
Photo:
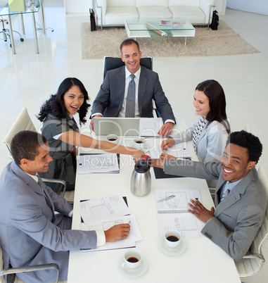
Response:
[{"label": "papers under the hand of the man in profile at left", "polygon": [[106,242],[97,249],[85,251],[102,251],[107,249],[122,249],[136,246],[135,242],[142,239],[139,226],[134,215],[129,215],[129,208],[121,194],[106,196],[101,199],[92,199],[79,203],[79,213],[83,219],[82,230],[106,231],[117,224],[129,223],[130,232],[127,239],[115,242]]}]

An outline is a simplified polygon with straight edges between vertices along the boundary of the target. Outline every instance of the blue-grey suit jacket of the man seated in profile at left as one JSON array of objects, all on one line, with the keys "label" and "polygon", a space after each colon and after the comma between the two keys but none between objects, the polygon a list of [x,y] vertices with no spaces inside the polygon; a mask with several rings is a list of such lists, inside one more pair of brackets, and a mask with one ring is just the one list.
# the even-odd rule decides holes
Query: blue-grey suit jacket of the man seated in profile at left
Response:
[{"label": "blue-grey suit jacket of the man seated in profile at left", "polygon": [[[68,251],[96,249],[96,232],[60,229],[63,215],[72,205],[43,184],[42,188],[14,162],[9,163],[0,178],[0,242],[4,268],[57,263],[60,279],[67,278]],[[51,209],[52,206],[52,209]],[[56,221],[53,211],[58,211]],[[18,274],[30,283],[54,282],[54,270]],[[44,280],[44,281],[41,281]]]}]

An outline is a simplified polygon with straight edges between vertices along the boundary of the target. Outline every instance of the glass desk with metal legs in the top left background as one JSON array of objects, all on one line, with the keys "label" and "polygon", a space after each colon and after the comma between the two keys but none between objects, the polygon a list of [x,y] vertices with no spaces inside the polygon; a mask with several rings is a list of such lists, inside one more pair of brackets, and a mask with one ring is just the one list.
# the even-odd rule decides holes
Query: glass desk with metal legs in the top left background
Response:
[{"label": "glass desk with metal legs in the top left background", "polygon": [[34,44],[35,44],[35,52],[36,54],[39,54],[39,48],[38,48],[38,42],[37,42],[37,27],[35,23],[35,17],[34,13],[38,13],[39,10],[42,13],[42,30],[43,34],[46,33],[45,24],[44,24],[44,11],[43,11],[43,1],[44,0],[35,0],[34,4],[31,4],[30,6],[25,5],[25,11],[9,11],[9,6],[4,1],[0,1],[0,17],[1,16],[7,16],[8,17],[8,23],[9,23],[9,30],[11,35],[11,48],[12,53],[15,54],[15,44],[14,44],[14,38],[13,38],[13,30],[12,30],[12,23],[11,23],[11,15],[20,15],[21,16],[21,25],[23,34],[25,34],[24,24],[23,24],[23,14],[32,14],[32,27],[34,30]]}]

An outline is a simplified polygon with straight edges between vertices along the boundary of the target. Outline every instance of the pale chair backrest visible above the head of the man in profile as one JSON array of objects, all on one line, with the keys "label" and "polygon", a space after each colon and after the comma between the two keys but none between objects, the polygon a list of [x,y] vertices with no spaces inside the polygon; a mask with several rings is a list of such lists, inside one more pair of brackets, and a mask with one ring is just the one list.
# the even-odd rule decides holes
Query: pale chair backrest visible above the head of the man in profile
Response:
[{"label": "pale chair backrest visible above the head of the man in profile", "polygon": [[3,142],[4,144],[6,144],[10,156],[11,156],[11,141],[15,136],[15,134],[23,130],[37,132],[32,122],[32,119],[28,114],[27,108],[23,108],[23,110],[20,112],[20,115],[18,115],[18,118],[13,123],[11,130],[9,130],[8,134],[6,134],[6,137],[4,138]]}]

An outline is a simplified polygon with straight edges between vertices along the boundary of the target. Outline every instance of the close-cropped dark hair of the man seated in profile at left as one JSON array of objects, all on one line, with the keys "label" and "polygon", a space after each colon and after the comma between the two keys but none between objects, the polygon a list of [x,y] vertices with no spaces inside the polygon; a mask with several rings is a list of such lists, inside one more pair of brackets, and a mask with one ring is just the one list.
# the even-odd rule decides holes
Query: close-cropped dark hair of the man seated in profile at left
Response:
[{"label": "close-cropped dark hair of the man seated in profile at left", "polygon": [[38,132],[21,131],[15,134],[11,141],[11,154],[17,165],[25,158],[28,161],[34,161],[38,156],[39,146],[46,144],[46,138]]}]

